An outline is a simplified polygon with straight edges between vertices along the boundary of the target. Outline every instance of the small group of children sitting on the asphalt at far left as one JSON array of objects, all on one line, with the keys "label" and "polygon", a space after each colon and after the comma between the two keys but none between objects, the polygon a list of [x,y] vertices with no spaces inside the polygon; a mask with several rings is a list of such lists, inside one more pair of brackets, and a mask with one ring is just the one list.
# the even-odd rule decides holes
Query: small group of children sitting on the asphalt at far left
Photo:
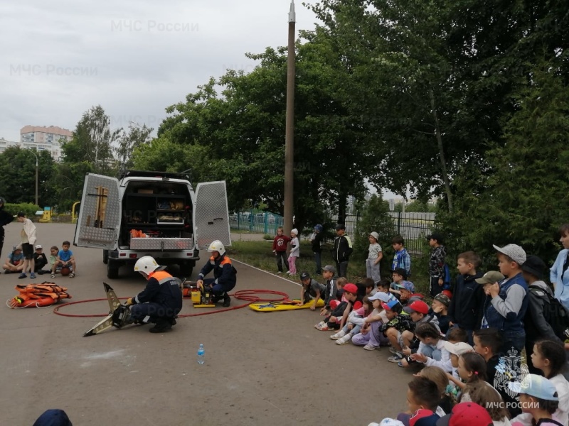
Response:
[{"label": "small group of children sitting on the asphalt at far left", "polygon": [[[63,241],[61,250],[57,246],[52,246],[48,259],[46,253],[43,253],[41,244],[36,244],[31,266],[33,271],[30,273],[30,278],[35,279],[36,273],[38,275],[48,273],[50,278],[55,278],[56,273],[61,273],[74,278],[77,273],[77,265],[73,251],[70,251],[69,247],[69,241]],[[27,278],[26,272],[24,272],[24,260],[22,246],[14,246],[6,258],[6,262],[2,265],[4,273],[19,273],[18,278]]]}]

